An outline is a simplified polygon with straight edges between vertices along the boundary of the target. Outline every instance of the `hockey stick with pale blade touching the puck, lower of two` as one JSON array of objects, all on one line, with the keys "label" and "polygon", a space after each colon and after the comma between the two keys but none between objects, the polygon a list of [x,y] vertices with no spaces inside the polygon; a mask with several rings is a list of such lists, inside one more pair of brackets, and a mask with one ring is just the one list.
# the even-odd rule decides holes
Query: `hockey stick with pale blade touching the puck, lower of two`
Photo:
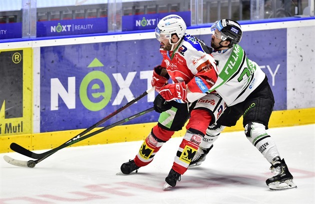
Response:
[{"label": "hockey stick with pale blade touching the puck, lower of two", "polygon": [[46,159],[46,158],[49,157],[50,155],[56,153],[56,152],[57,152],[58,150],[60,150],[60,149],[63,149],[63,148],[68,147],[68,146],[70,146],[70,145],[73,145],[73,144],[75,144],[75,143],[77,143],[77,142],[79,142],[79,141],[85,140],[85,139],[87,139],[87,138],[89,138],[89,137],[92,137],[92,136],[94,136],[94,135],[96,135],[96,134],[98,134],[98,133],[101,133],[101,132],[103,132],[103,131],[105,131],[105,130],[108,130],[108,129],[110,129],[110,128],[113,128],[113,127],[115,127],[115,126],[117,126],[117,125],[121,125],[122,123],[125,123],[125,122],[130,121],[130,120],[132,120],[132,119],[134,119],[134,118],[137,118],[137,117],[139,117],[139,116],[141,116],[141,115],[144,115],[144,114],[146,114],[146,113],[149,113],[149,112],[151,112],[152,110],[153,110],[153,107],[152,107],[152,108],[149,108],[149,109],[146,109],[146,110],[144,110],[144,111],[142,111],[142,112],[140,112],[140,113],[137,113],[137,114],[135,114],[135,115],[133,115],[133,116],[130,116],[130,117],[128,117],[128,118],[125,118],[125,119],[123,119],[123,120],[120,120],[120,121],[118,121],[118,122],[115,122],[115,123],[113,123],[113,124],[111,124],[111,125],[109,125],[109,126],[103,127],[103,128],[101,128],[101,129],[99,129],[99,130],[96,130],[96,131],[94,131],[94,132],[92,132],[92,133],[89,133],[89,134],[87,134],[87,135],[84,135],[84,136],[82,136],[82,137],[80,137],[80,138],[77,138],[77,139],[75,139],[75,140],[71,139],[71,140],[69,140],[68,142],[66,142],[66,143],[64,143],[64,144],[62,144],[62,145],[60,145],[59,147],[52,149],[53,151],[52,151],[52,150],[48,151],[49,154],[45,154],[43,157],[41,157],[41,158],[39,158],[39,159],[37,159],[37,160],[21,161],[21,160],[12,159],[12,158],[10,158],[10,157],[8,157],[8,156],[6,156],[6,155],[3,156],[3,159],[4,159],[7,163],[9,163],[9,164],[11,164],[11,165],[14,165],[14,166],[33,168],[33,167],[35,167],[36,164],[38,164],[38,163],[41,162],[42,160]]}]

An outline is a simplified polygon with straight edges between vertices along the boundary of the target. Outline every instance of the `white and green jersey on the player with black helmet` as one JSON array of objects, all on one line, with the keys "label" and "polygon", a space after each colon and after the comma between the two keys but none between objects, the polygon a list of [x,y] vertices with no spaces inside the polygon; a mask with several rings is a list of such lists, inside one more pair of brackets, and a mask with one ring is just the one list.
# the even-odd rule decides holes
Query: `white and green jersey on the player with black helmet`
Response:
[{"label": "white and green jersey on the player with black helmet", "polygon": [[217,61],[218,78],[208,92],[216,91],[227,106],[244,101],[265,78],[265,73],[238,45],[211,53]]}]

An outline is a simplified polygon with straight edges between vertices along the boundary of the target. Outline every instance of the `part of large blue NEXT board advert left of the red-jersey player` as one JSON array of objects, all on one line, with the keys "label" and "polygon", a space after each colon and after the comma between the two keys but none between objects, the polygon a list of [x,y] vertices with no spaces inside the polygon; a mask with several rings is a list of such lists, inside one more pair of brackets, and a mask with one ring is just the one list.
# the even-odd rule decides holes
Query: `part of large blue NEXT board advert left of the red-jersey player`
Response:
[{"label": "part of large blue NEXT board advert left of the red-jersey player", "polygon": [[[160,59],[145,58],[160,54],[156,42],[157,49],[143,44],[153,42],[147,39],[41,47],[40,132],[88,127],[147,90],[152,69]],[[146,55],[138,55],[133,49]],[[103,125],[150,108],[153,100],[152,92]],[[154,120],[156,117],[145,121],[141,117],[132,123]]]}]

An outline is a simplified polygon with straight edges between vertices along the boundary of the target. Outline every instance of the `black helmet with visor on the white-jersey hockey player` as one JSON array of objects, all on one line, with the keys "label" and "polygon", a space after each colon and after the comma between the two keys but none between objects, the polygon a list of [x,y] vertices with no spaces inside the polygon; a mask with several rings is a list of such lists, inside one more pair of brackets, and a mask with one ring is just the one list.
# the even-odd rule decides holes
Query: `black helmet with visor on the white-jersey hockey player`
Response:
[{"label": "black helmet with visor on the white-jersey hockey player", "polygon": [[230,44],[228,47],[232,47],[233,44],[237,44],[242,35],[241,27],[235,20],[220,19],[213,23],[211,26],[211,32],[214,34],[214,30],[218,29],[221,32],[221,40],[228,40]]}]

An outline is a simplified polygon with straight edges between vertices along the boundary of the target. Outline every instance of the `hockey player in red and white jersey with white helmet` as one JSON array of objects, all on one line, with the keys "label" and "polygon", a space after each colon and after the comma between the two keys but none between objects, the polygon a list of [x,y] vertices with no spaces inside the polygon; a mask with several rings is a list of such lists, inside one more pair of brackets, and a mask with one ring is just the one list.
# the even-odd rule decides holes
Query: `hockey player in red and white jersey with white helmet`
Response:
[{"label": "hockey player in red and white jersey with white helmet", "polygon": [[[135,158],[120,167],[123,174],[130,174],[148,165],[161,146],[190,118],[163,189],[174,187],[180,180],[208,125],[213,124],[225,108],[217,94],[205,93],[217,79],[213,57],[204,43],[185,31],[185,22],[178,15],[165,16],[157,24],[155,35],[160,42],[162,62],[153,70],[151,85],[159,93],[153,102],[154,110],[160,113],[158,123]],[[169,78],[173,84],[167,84]]]}]

